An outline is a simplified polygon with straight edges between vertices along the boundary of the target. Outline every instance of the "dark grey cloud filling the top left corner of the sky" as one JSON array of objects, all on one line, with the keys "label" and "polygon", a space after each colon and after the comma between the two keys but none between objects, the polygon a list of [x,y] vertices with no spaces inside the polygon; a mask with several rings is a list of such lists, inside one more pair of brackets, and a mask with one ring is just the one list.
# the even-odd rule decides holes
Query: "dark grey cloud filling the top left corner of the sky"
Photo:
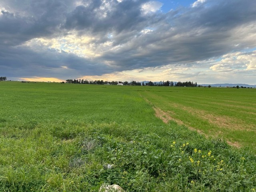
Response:
[{"label": "dark grey cloud filling the top left corner of the sky", "polygon": [[7,10],[0,14],[0,44],[18,45],[32,38],[56,36],[59,26],[66,18],[69,1],[64,0],[24,0],[3,1]]}]

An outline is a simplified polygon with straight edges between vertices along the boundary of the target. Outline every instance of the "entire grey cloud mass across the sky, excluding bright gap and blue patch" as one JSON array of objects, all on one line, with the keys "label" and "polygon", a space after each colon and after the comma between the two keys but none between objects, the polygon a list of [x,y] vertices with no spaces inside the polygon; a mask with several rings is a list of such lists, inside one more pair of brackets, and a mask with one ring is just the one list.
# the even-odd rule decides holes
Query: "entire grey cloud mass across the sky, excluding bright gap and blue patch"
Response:
[{"label": "entire grey cloud mass across the sky, excluding bright gap and blue patch", "polygon": [[[142,5],[148,0],[81,2],[2,0],[2,76],[101,75],[192,63],[256,47],[254,0],[206,0],[198,6],[180,7],[166,14],[146,14]],[[44,45],[24,44],[34,38],[50,40],[67,34],[95,36],[90,42],[94,47],[92,51],[98,51],[100,56],[82,58]],[[102,50],[100,46],[108,41],[111,46]]]}]

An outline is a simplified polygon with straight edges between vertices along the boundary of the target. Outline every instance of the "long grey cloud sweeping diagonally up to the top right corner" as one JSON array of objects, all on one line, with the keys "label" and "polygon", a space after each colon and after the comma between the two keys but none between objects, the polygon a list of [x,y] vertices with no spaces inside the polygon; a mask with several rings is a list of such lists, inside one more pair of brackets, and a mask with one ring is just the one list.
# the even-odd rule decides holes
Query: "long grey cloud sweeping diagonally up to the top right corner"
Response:
[{"label": "long grey cloud sweeping diagonally up to the top right corner", "polygon": [[[115,60],[125,67],[157,66],[176,62],[194,62],[218,57],[227,52],[254,48],[256,41],[248,42],[248,34],[255,34],[256,2],[210,1],[195,8],[171,11],[162,18],[157,29],[144,37],[127,39],[124,51],[105,52],[104,58]],[[246,29],[238,34],[237,28]],[[240,29],[242,30],[242,29]],[[256,36],[254,35],[254,38]],[[242,46],[234,46],[241,44]],[[143,50],[143,51],[141,51]],[[134,56],[143,52],[142,56]],[[127,65],[125,65],[127,63]],[[144,65],[143,65],[144,64]],[[129,68],[128,67],[128,68]]]}]

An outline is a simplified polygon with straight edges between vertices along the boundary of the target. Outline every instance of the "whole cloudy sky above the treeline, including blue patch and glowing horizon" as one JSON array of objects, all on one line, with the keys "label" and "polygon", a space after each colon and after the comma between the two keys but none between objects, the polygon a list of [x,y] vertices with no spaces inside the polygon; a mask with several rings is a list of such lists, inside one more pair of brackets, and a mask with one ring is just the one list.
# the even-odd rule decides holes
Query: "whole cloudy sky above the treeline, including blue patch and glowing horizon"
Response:
[{"label": "whole cloudy sky above the treeline, including blue patch and glowing horizon", "polygon": [[256,84],[256,0],[1,0],[8,80]]}]

